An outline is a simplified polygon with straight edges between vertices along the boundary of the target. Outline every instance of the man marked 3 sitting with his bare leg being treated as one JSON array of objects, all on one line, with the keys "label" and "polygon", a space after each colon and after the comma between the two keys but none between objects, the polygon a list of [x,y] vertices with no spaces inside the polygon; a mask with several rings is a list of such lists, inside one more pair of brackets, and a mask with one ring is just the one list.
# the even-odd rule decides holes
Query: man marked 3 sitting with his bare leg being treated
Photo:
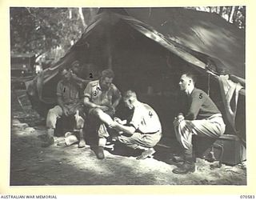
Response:
[{"label": "man marked 3 sitting with his bare leg being treated", "polygon": [[99,122],[97,158],[105,158],[104,146],[106,138],[109,137],[107,128],[114,121],[115,108],[120,101],[121,93],[112,83],[114,72],[103,70],[99,80],[89,82],[84,90],[84,105],[87,108],[88,118],[95,118]]}]

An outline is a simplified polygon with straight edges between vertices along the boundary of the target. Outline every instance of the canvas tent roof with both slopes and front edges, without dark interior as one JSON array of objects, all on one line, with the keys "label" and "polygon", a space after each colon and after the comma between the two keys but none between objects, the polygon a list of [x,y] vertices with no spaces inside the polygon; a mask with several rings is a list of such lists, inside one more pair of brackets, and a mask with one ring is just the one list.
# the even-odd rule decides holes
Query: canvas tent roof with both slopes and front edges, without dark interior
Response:
[{"label": "canvas tent roof with both slopes and front edges, without dark interior", "polygon": [[[217,14],[183,8],[102,8],[94,22],[54,66],[44,70],[42,82],[58,74],[58,66],[72,61],[76,50],[86,46],[87,37],[95,30],[106,34],[104,27],[126,22],[147,38],[158,42],[170,52],[194,66],[217,74],[245,78],[244,32]],[[102,26],[105,25],[105,26]],[[95,29],[96,28],[96,29]],[[210,68],[207,67],[210,61]],[[213,64],[213,65],[211,65]]]}]

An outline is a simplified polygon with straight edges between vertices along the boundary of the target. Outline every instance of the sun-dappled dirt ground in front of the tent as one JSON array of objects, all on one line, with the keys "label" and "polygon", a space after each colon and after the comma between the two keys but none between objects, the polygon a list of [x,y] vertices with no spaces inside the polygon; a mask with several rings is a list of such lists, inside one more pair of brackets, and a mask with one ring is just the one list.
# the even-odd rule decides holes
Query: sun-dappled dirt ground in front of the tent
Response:
[{"label": "sun-dappled dirt ground in front of the tent", "polygon": [[[45,121],[31,109],[23,94],[12,93],[11,186],[246,185],[246,162],[211,168],[218,162],[197,158],[194,173],[173,174],[176,166],[169,159],[178,148],[165,136],[156,146],[154,158],[145,160],[136,160],[136,152],[122,146],[106,149],[106,158],[98,160],[90,146],[65,146],[63,137],[55,137],[53,146],[42,147]],[[21,96],[23,99],[17,101]]]}]

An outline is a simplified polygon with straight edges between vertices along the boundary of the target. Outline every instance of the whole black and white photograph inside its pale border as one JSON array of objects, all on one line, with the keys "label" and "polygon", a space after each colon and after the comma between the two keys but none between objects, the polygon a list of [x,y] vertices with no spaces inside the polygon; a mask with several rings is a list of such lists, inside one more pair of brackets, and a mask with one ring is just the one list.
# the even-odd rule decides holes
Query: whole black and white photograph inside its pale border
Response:
[{"label": "whole black and white photograph inside its pale border", "polygon": [[246,6],[10,6],[10,186],[247,186]]}]

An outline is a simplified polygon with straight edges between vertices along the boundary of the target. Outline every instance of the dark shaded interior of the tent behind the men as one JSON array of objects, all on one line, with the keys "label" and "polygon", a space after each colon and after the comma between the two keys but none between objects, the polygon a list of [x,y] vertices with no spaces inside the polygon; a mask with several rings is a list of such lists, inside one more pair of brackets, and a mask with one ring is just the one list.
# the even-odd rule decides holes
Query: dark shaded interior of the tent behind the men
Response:
[{"label": "dark shaded interior of the tent behind the men", "polygon": [[[111,20],[108,20],[110,19]],[[198,88],[210,94],[225,116],[218,80],[210,74],[186,62],[151,38],[135,30],[121,18],[110,15],[94,26],[70,49],[70,57],[77,59],[83,66],[80,77],[98,78],[98,72],[112,68],[115,73],[114,84],[123,92],[135,90],[138,99],[150,104],[159,114],[163,134],[174,137],[173,119],[178,114],[180,75],[185,71],[198,74]],[[70,62],[66,62],[69,67]],[[42,90],[44,97],[54,97],[58,75],[46,82]],[[50,90],[49,90],[50,89]],[[119,115],[125,115],[122,104]],[[238,116],[245,116],[245,98],[239,96]],[[238,130],[245,139],[245,120],[237,118]],[[228,124],[228,122],[226,122]],[[231,131],[230,128],[227,131]]]}]

